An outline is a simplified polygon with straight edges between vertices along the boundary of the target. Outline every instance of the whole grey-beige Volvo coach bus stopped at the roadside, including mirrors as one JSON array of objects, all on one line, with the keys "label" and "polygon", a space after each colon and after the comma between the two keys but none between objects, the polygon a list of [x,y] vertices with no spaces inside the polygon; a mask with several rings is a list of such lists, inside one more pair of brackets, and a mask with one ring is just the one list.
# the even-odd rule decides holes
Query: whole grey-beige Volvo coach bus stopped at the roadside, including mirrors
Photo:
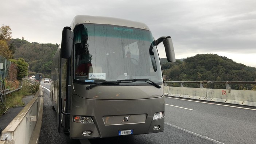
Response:
[{"label": "whole grey-beige Volvo coach bus stopped at the roadside, including mirrors", "polygon": [[71,139],[163,132],[161,42],[175,62],[171,37],[154,39],[144,23],[75,16],[62,30],[51,70],[58,131]]}]

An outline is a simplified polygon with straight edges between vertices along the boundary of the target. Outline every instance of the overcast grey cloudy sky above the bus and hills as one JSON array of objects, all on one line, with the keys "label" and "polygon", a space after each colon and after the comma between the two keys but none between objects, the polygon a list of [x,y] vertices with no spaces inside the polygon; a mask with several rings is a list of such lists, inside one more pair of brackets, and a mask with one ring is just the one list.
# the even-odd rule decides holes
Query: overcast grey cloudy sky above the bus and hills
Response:
[{"label": "overcast grey cloudy sky above the bus and hills", "polygon": [[12,38],[28,42],[60,44],[75,15],[109,16],[171,36],[178,59],[218,54],[256,67],[256,0],[4,0],[0,13]]}]

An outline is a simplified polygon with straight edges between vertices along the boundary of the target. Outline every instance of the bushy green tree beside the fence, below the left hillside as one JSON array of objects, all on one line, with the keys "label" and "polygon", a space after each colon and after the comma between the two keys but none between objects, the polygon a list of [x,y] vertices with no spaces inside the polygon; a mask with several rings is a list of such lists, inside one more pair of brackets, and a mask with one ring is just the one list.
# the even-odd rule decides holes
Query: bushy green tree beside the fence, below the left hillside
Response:
[{"label": "bushy green tree beside the fence, below the left hillside", "polygon": [[17,66],[17,79],[21,80],[28,74],[28,63],[23,58],[19,58],[18,60],[10,59],[10,61]]}]

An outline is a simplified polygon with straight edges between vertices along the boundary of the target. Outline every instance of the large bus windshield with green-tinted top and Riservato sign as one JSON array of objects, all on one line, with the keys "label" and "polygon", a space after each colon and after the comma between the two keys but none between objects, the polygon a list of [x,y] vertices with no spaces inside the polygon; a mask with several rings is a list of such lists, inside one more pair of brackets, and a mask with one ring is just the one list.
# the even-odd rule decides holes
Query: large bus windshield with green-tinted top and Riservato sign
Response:
[{"label": "large bus windshield with green-tinted top and Riservato sign", "polygon": [[[150,79],[162,84],[159,55],[150,31],[106,24],[79,24],[73,32],[74,81],[92,84]],[[127,81],[129,85],[142,83],[146,82]]]}]

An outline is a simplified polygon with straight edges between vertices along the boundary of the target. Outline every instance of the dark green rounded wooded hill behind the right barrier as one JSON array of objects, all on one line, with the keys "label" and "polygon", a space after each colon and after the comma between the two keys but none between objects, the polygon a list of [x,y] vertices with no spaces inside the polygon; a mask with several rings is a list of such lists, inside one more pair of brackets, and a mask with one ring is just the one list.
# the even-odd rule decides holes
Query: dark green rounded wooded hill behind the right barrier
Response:
[{"label": "dark green rounded wooded hill behind the right barrier", "polygon": [[[256,68],[236,63],[217,54],[197,54],[182,61],[168,63],[161,59],[163,74],[169,81],[255,81]],[[196,84],[198,85],[198,84]],[[198,87],[195,84],[190,86]],[[223,85],[219,85],[223,87]],[[204,87],[220,88],[205,84]],[[252,85],[233,85],[233,89],[252,89]]]}]

